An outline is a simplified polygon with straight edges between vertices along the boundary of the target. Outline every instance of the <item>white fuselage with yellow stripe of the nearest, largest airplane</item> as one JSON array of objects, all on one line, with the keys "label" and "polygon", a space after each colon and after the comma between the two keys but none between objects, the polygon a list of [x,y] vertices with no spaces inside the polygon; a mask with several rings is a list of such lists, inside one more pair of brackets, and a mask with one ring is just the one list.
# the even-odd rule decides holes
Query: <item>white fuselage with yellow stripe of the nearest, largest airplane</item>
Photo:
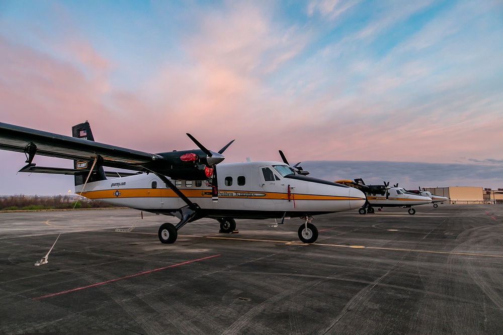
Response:
[{"label": "white fuselage with yellow stripe of the nearest, largest airplane", "polygon": [[[359,208],[365,203],[360,190],[296,174],[280,162],[219,164],[217,202],[212,201],[211,187],[204,181],[173,183],[212,218],[315,215]],[[88,183],[81,195],[166,215],[186,205],[152,173]]]}]

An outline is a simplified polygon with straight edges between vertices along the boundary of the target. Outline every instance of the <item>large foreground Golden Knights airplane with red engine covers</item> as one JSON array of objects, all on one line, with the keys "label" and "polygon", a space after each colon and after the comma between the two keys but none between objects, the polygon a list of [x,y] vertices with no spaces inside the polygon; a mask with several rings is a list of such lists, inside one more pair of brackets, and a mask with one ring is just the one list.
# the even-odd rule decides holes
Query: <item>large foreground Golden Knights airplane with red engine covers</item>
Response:
[{"label": "large foreground Golden Knights airplane with red engine covers", "polygon": [[[0,123],[0,149],[25,153],[27,165],[20,172],[74,175],[75,193],[87,198],[178,217],[176,226],[160,226],[162,243],[174,243],[178,230],[203,217],[216,219],[221,232],[231,233],[235,218],[281,218],[283,223],[290,216],[304,220],[299,239],[313,243],[318,237],[313,215],[365,204],[360,190],[307,177],[298,164],[290,167],[282,152],[283,162],[223,164],[222,154],[233,141],[213,152],[187,135],[199,149],[151,154],[94,142],[87,121],[72,127],[72,137]],[[74,166],[38,167],[35,155],[70,159]],[[137,172],[107,179],[117,172],[103,167]]]}]

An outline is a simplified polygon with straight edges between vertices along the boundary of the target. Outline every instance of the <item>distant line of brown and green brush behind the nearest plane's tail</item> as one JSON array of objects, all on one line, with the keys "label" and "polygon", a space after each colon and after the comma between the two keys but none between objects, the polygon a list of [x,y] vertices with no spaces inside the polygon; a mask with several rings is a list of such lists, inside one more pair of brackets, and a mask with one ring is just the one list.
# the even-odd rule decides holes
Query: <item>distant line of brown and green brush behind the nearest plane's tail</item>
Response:
[{"label": "distant line of brown and green brush behind the nearest plane's tail", "polygon": [[40,210],[40,209],[71,209],[71,208],[110,208],[118,207],[103,201],[73,200],[69,195],[25,196],[16,194],[0,197],[0,210]]}]

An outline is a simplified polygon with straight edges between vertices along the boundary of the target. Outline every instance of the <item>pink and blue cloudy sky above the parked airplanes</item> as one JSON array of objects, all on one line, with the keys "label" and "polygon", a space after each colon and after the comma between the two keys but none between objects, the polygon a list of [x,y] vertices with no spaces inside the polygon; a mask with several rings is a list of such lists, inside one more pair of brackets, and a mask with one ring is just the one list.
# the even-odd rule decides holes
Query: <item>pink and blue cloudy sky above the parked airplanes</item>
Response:
[{"label": "pink and blue cloudy sky above the parked airplanes", "polygon": [[[152,153],[188,132],[236,139],[226,162],[282,149],[330,180],[503,187],[503,3],[0,1],[0,122],[86,120]],[[0,195],[73,191],[24,160],[0,152]]]}]

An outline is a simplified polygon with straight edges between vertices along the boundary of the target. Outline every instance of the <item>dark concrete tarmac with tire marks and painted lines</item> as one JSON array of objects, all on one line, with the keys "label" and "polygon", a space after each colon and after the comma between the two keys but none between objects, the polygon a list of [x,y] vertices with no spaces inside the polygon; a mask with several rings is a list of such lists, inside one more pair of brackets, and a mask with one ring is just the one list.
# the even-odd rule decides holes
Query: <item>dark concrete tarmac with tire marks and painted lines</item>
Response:
[{"label": "dark concrete tarmac with tire marks and painted lines", "polygon": [[316,216],[311,245],[299,218],[202,219],[163,245],[173,217],[0,213],[0,333],[503,333],[503,206],[415,209]]}]

